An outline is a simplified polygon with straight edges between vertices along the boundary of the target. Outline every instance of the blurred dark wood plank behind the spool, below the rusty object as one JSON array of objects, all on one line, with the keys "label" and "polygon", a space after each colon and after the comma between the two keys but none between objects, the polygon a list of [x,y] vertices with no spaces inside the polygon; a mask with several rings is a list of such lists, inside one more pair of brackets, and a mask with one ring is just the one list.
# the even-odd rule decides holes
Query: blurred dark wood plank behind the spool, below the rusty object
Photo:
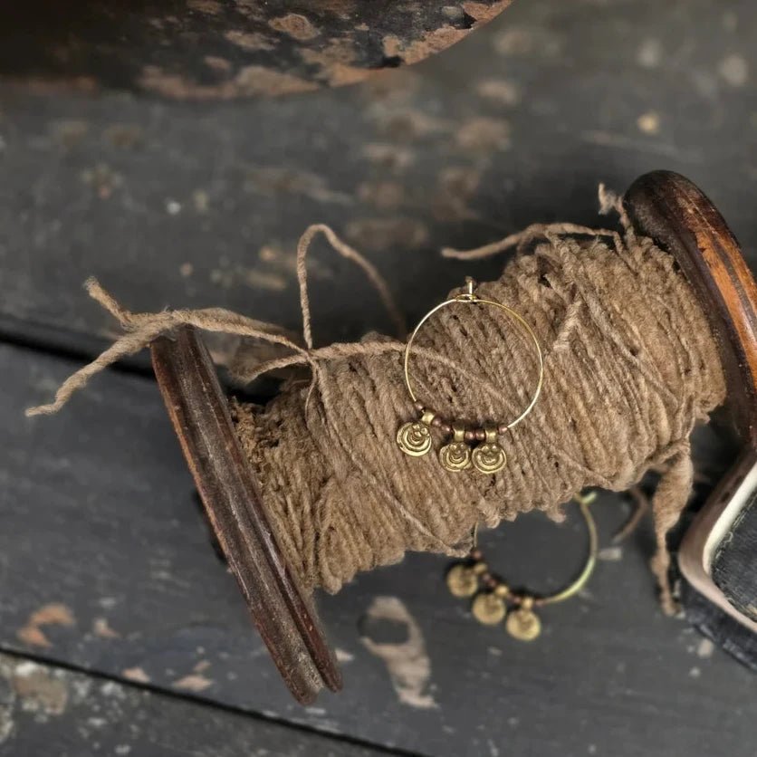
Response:
[{"label": "blurred dark wood plank behind the spool, below the rusty object", "polygon": [[[83,335],[112,329],[81,294],[95,274],[135,310],[217,304],[296,329],[293,249],[313,221],[364,249],[413,321],[499,268],[442,265],[443,244],[596,223],[599,181],[654,168],[703,187],[753,256],[756,36],[750,0],[524,0],[413,70],[302,98],[0,89],[0,327],[91,350]],[[316,338],[388,331],[350,264],[316,256]]]}]

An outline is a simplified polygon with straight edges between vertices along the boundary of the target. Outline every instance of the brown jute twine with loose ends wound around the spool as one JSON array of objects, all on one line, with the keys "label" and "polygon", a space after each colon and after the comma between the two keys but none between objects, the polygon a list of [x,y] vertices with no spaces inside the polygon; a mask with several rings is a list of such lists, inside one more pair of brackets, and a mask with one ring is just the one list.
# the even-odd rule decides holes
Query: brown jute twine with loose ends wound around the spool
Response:
[{"label": "brown jute twine with loose ends wound around the spool", "polygon": [[[723,369],[673,258],[637,236],[603,188],[600,203],[618,211],[621,232],[532,225],[478,250],[444,253],[473,260],[515,248],[502,275],[478,292],[520,312],[544,353],[541,398],[503,437],[508,463],[493,476],[448,473],[435,455],[411,458],[398,449],[398,423],[414,415],[403,383],[404,341],[369,333],[355,343],[313,346],[305,258],[318,233],[363,268],[401,321],[377,271],[321,225],[298,246],[302,342],[221,309],[132,313],[91,280],[91,296],[126,333],[68,378],[53,404],[27,412],[56,412],[93,374],[179,324],[278,345],[283,354],[270,359],[268,350],[262,362],[250,359],[255,349],[247,346],[230,369],[251,381],[304,365],[311,377],[288,378],[264,407],[232,400],[232,414],[279,545],[305,588],[335,592],[359,570],[399,561],[406,551],[462,556],[474,522],[493,527],[534,509],[561,521],[562,503],[581,489],[623,491],[654,467],[662,475],[652,501],[652,570],[672,610],[666,532],[691,493],[692,430],[725,397]],[[414,379],[446,417],[515,417],[536,370],[527,340],[505,317],[445,309],[418,338]]]}]

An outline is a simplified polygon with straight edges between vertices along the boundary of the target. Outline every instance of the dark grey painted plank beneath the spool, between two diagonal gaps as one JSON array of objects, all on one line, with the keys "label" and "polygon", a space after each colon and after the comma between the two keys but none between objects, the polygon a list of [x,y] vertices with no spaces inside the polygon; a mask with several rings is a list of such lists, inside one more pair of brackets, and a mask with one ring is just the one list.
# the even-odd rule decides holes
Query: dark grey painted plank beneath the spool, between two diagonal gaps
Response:
[{"label": "dark grey painted plank beneath the spool, between two diagonal gaps", "polygon": [[[208,544],[155,384],[110,372],[59,417],[25,419],[72,364],[5,346],[0,366],[0,647],[424,754],[751,757],[753,676],[660,614],[647,530],[603,551],[532,645],[477,626],[433,555],[319,597],[345,692],[301,708]],[[627,510],[594,507],[607,545]],[[578,519],[485,538],[534,589],[560,586],[585,548]]]}]

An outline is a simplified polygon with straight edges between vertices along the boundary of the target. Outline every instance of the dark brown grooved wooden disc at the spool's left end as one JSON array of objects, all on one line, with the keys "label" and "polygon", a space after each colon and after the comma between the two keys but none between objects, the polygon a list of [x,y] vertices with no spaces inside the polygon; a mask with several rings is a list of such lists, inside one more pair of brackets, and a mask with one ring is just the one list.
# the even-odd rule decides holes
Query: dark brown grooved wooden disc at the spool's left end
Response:
[{"label": "dark brown grooved wooden disc at the spool's left end", "polygon": [[276,543],[205,344],[193,328],[181,327],[151,351],[197,491],[273,662],[302,704],[324,686],[338,691],[339,667]]}]

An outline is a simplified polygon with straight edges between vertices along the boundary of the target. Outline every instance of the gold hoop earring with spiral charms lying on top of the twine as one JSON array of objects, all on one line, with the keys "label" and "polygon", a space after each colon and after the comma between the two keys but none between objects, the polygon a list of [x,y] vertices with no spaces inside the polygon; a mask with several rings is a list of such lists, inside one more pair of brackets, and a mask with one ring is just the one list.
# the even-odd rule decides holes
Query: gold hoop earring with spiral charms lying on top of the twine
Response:
[{"label": "gold hoop earring with spiral charms lying on top of the twine", "polygon": [[[458,294],[445,302],[440,302],[435,308],[428,311],[426,315],[418,321],[416,328],[407,339],[404,357],[405,386],[407,387],[407,393],[410,395],[410,399],[412,399],[420,417],[416,421],[409,421],[408,423],[399,426],[397,432],[397,444],[406,455],[410,455],[411,457],[426,455],[432,446],[431,429],[432,427],[439,428],[445,436],[451,436],[451,439],[446,445],[442,446],[439,450],[439,462],[447,471],[457,473],[473,467],[479,471],[479,473],[495,474],[498,471],[501,471],[507,462],[507,455],[505,455],[504,449],[499,443],[499,436],[506,434],[511,428],[513,428],[513,426],[517,426],[523,418],[528,416],[536,405],[536,401],[541,394],[541,385],[544,380],[544,359],[541,355],[539,340],[536,338],[536,334],[532,327],[527,321],[525,321],[522,315],[513,311],[512,308],[503,305],[502,302],[494,302],[493,300],[479,297],[474,289],[474,280],[467,277],[465,279],[465,292]],[[410,378],[409,367],[410,350],[413,346],[413,342],[423,324],[426,323],[434,313],[449,305],[458,303],[464,303],[465,305],[471,306],[489,305],[498,308],[512,318],[513,321],[516,321],[533,342],[539,365],[539,376],[536,381],[536,387],[532,392],[531,401],[525,409],[523,409],[522,413],[510,423],[482,423],[480,426],[466,428],[465,424],[461,423],[459,420],[452,419],[446,421],[444,418],[437,415],[436,411],[427,407],[424,402],[417,398]],[[479,443],[478,446],[474,446],[476,442]]]}]

